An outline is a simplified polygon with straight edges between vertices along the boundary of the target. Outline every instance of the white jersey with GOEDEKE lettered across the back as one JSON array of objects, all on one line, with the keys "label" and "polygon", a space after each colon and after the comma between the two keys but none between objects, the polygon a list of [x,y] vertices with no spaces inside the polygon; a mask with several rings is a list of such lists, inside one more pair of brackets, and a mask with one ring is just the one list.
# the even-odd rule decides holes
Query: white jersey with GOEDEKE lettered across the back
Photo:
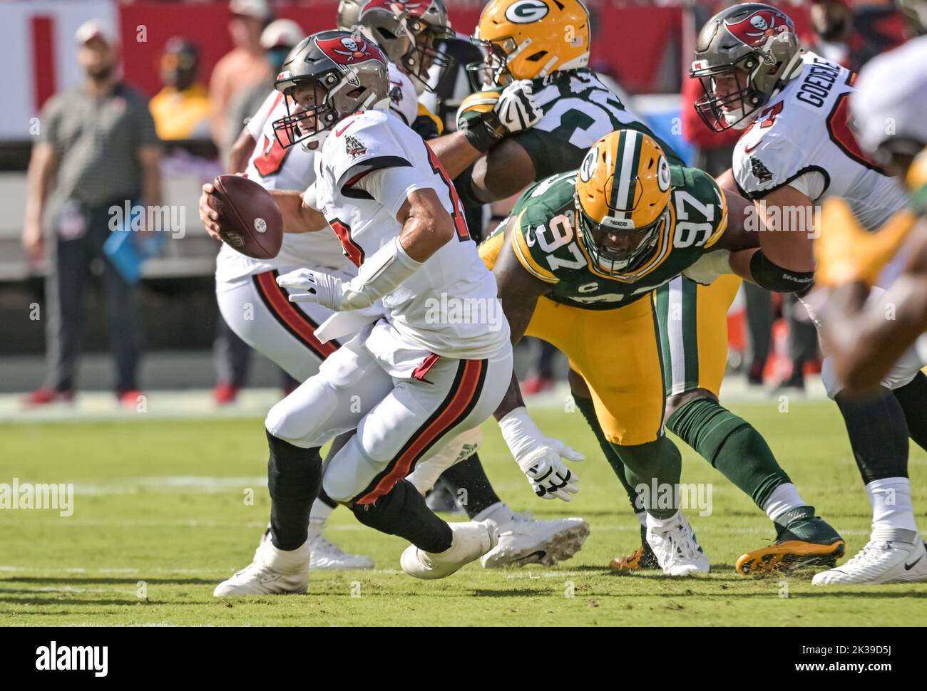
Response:
[{"label": "white jersey with GOEDEKE lettered across the back", "polygon": [[751,199],[793,184],[814,202],[844,197],[860,223],[879,228],[905,205],[905,190],[862,152],[849,119],[856,75],[814,53],[734,148],[733,173]]}]

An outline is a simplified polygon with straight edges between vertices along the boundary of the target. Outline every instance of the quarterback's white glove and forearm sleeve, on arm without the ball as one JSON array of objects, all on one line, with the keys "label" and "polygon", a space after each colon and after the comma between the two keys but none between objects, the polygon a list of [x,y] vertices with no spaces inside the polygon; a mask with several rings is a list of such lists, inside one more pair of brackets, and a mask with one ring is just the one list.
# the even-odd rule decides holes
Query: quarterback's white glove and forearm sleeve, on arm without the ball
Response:
[{"label": "quarterback's white glove and forearm sleeve, on arm without the ball", "polygon": [[402,248],[399,237],[380,247],[361,265],[357,276],[344,282],[324,271],[297,269],[277,277],[277,285],[302,293],[291,293],[290,302],[314,302],[341,311],[369,308],[422,267]]}]

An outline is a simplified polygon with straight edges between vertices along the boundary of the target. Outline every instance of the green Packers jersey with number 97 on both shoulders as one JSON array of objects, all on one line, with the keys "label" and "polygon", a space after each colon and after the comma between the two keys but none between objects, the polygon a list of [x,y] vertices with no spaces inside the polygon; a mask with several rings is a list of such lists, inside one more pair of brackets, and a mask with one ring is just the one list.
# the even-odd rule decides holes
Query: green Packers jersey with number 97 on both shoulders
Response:
[{"label": "green Packers jersey with number 97 on both shoulders", "polygon": [[[728,225],[727,202],[710,175],[696,168],[669,168],[669,219],[654,254],[641,266],[612,276],[590,259],[575,231],[575,171],[536,182],[518,197],[511,214],[516,223],[510,238],[515,256],[529,273],[551,283],[547,296],[556,302],[614,309],[648,295],[692,266]],[[505,225],[500,224],[493,237]],[[487,245],[491,243],[492,237]]]}]

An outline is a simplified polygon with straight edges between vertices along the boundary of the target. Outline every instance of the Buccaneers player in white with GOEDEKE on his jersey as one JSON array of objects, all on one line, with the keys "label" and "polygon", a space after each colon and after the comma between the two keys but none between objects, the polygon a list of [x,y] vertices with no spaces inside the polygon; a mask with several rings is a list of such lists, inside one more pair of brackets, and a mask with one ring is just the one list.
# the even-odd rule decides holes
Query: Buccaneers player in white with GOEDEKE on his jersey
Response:
[{"label": "Buccaneers player in white with GOEDEKE on his jersey", "polygon": [[[775,7],[731,6],[709,19],[696,42],[692,77],[705,96],[696,110],[717,131],[743,129],[732,176],[753,199],[762,253],[739,272],[780,292],[813,282],[816,208],[844,197],[875,230],[906,204],[904,187],[867,157],[848,120],[855,75],[803,54],[794,23]],[[732,179],[731,179],[732,178]],[[810,309],[812,315],[814,309]],[[921,549],[907,477],[908,433],[927,445],[927,377],[913,348],[883,378],[878,396],[849,396],[825,358],[822,378],[846,422],[850,444],[875,511],[872,539],[857,558],[818,574],[814,583],[878,583],[901,552]],[[889,554],[884,545],[904,546]]]}]

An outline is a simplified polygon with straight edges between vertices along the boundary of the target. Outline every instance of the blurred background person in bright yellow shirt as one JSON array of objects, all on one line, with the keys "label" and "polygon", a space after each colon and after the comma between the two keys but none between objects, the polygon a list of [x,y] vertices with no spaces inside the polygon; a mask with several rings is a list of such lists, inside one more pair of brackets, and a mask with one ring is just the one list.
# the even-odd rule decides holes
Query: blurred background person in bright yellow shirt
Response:
[{"label": "blurred background person in bright yellow shirt", "polygon": [[151,99],[151,115],[161,139],[203,139],[210,136],[210,98],[197,82],[197,46],[173,37],[161,53],[163,88]]}]

